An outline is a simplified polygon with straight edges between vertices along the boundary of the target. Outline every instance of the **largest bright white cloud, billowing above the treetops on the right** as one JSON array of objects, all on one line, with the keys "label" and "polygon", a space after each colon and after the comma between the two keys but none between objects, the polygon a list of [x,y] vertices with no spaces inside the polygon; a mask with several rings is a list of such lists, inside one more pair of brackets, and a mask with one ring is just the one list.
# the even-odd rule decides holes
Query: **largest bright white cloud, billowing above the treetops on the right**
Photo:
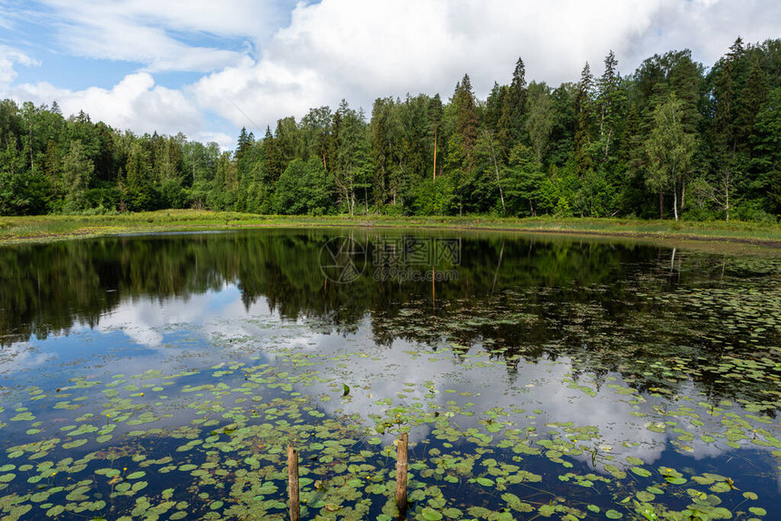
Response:
[{"label": "largest bright white cloud, billowing above the treetops on the right", "polygon": [[367,111],[386,95],[447,98],[465,73],[484,98],[494,81],[509,83],[519,56],[529,81],[553,85],[577,81],[587,61],[600,74],[611,49],[622,74],[686,47],[709,65],[738,34],[773,37],[778,19],[767,0],[322,0],[297,5],[261,58],[203,77],[193,93],[237,126],[242,112],[273,125],[342,97]]}]

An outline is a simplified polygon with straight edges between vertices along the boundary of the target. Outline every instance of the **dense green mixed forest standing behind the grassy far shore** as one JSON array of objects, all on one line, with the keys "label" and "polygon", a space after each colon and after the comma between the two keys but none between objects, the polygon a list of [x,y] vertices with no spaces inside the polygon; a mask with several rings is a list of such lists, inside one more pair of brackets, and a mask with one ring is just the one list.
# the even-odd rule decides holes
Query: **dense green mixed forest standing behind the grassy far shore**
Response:
[{"label": "dense green mixed forest standing behind the grassy far shore", "polygon": [[[470,77],[439,94],[342,100],[287,117],[235,151],[121,132],[57,103],[0,102],[0,215],[209,208],[776,221],[781,214],[781,39],[706,68],[672,51],[621,75],[509,85]],[[368,120],[368,121],[367,121]]]}]

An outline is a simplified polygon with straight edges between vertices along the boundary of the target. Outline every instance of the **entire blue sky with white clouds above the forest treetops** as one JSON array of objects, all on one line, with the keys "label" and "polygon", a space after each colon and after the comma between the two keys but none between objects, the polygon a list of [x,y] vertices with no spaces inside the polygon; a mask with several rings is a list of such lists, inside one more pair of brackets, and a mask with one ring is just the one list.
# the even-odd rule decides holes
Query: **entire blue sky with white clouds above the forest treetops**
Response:
[{"label": "entire blue sky with white clouds above the forest treetops", "polygon": [[[706,66],[738,34],[776,38],[768,0],[0,0],[0,97],[135,133],[232,147],[284,116],[371,111],[381,96],[440,93],[469,73],[484,98],[509,82],[576,81],[610,49],[622,74],[690,48]],[[260,128],[255,128],[255,127]]]}]

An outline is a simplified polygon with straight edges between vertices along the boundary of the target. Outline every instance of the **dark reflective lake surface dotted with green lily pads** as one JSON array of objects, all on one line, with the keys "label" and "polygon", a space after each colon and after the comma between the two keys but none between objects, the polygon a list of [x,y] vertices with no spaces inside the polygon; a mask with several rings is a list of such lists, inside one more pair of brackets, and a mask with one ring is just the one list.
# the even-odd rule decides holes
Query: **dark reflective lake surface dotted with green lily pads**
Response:
[{"label": "dark reflective lake surface dotted with green lily pads", "polygon": [[[781,256],[453,231],[0,248],[8,519],[781,519]],[[6,517],[4,517],[5,519]]]}]

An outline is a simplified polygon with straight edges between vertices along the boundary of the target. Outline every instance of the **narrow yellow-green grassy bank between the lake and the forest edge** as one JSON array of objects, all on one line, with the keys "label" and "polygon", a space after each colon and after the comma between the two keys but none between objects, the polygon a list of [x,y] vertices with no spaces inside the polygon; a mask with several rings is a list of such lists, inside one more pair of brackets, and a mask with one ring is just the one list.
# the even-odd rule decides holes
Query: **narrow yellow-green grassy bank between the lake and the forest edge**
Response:
[{"label": "narrow yellow-green grassy bank between the lake and the forest edge", "polygon": [[0,217],[0,245],[164,231],[251,228],[388,228],[571,234],[651,241],[708,241],[781,249],[781,225],[739,221],[641,221],[469,217],[267,216],[227,211],[148,211],[121,215]]}]

